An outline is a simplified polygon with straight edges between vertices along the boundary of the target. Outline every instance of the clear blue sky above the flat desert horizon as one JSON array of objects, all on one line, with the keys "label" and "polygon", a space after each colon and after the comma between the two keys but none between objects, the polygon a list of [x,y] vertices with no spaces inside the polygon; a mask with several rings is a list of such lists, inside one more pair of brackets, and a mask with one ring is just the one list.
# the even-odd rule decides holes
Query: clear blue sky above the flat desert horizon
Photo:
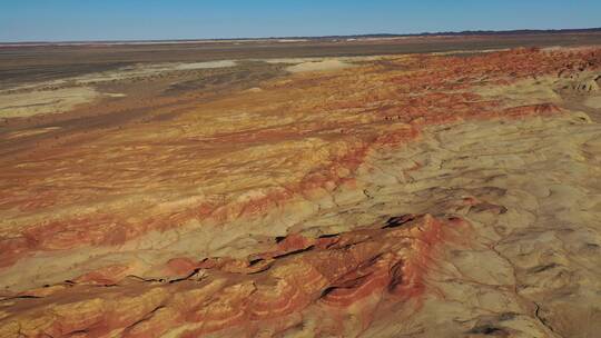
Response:
[{"label": "clear blue sky above the flat desert horizon", "polygon": [[0,0],[0,41],[601,27],[601,0]]}]

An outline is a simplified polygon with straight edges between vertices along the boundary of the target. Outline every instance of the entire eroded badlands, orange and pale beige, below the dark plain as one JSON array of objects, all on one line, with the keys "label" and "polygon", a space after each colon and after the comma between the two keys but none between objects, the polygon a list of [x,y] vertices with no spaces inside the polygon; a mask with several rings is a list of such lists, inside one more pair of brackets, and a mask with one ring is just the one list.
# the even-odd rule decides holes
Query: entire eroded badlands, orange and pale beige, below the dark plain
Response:
[{"label": "entire eroded badlands, orange and pale beige, below the dark plain", "polygon": [[0,337],[595,337],[601,49],[328,62],[7,151]]}]

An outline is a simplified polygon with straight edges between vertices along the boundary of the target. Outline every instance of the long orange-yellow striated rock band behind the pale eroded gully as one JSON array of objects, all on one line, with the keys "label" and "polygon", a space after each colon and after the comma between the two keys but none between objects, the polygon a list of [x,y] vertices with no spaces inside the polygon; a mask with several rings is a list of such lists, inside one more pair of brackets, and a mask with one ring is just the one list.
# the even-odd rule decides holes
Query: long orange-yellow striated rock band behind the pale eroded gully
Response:
[{"label": "long orange-yellow striated rock band behind the pale eroded gully", "polygon": [[[298,195],[323,196],[347,180],[370,149],[414,139],[424,126],[556,111],[544,105],[502,107],[471,92],[473,86],[599,69],[600,59],[598,49],[400,57],[386,71],[367,63],[334,73],[299,73],[288,82],[264,83],[260,92],[186,103],[177,107],[185,112],[174,120],[86,132],[77,136],[81,146],[24,151],[4,161],[0,181],[0,210],[7,215],[0,266],[39,251],[119,245],[193,220],[256,217]],[[233,125],[218,119],[207,123],[211,116],[198,119],[199,111],[236,117],[240,110],[265,121],[290,118],[295,123],[256,128],[244,117]],[[321,145],[307,141],[317,139]],[[273,149],[274,157],[264,157],[262,147]],[[259,165],[239,167],[236,149]],[[303,159],[299,166],[297,159]],[[216,163],[240,171],[217,175]],[[257,168],[270,169],[257,175]],[[240,182],[240,175],[257,176],[239,187],[221,183]],[[194,192],[198,187],[205,192]],[[87,206],[90,211],[65,211]],[[8,230],[8,222],[16,226]]]}]

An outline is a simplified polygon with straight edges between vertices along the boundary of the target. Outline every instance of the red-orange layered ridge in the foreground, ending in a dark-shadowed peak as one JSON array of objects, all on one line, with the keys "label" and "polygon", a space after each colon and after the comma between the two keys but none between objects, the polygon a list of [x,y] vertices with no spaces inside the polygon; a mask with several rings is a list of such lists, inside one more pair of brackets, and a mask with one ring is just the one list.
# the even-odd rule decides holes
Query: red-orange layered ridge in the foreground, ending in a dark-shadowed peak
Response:
[{"label": "red-orange layered ridge in the foreground, ending in a dark-shadowed peak", "polygon": [[413,216],[398,227],[327,238],[290,235],[299,246],[275,245],[262,255],[260,269],[249,260],[205,259],[178,279],[129,277],[110,286],[69,282],[22,292],[0,302],[0,337],[276,335],[314,314],[341,327],[353,316],[367,327],[380,302],[417,305],[437,247],[466,229],[459,220]]}]

